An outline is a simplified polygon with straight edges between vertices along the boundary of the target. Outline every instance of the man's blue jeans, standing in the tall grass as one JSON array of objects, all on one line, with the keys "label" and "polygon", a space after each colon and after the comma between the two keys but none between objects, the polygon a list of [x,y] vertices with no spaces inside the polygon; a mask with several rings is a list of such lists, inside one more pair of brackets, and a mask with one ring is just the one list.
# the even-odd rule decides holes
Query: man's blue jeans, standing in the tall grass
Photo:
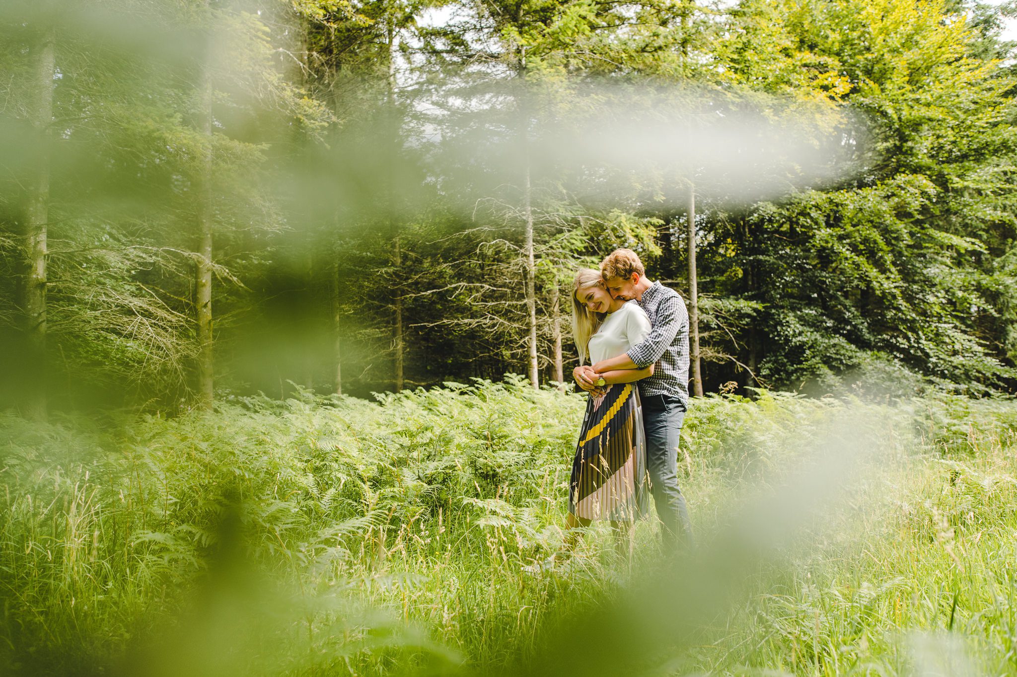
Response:
[{"label": "man's blue jeans, standing in the tall grass", "polygon": [[678,443],[685,408],[673,395],[642,397],[643,427],[646,430],[646,467],[657,514],[664,522],[664,545],[693,544],[692,522],[685,497],[678,489]]}]

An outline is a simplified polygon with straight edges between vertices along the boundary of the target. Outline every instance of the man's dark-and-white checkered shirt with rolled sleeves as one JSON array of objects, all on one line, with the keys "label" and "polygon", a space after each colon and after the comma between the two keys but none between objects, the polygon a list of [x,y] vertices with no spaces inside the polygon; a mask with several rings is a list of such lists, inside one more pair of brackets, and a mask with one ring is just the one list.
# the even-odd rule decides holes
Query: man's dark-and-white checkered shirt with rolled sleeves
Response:
[{"label": "man's dark-and-white checkered shirt with rolled sleeves", "polygon": [[656,365],[653,376],[639,382],[643,395],[669,394],[689,408],[689,311],[673,289],[659,282],[643,292],[640,306],[650,317],[650,333],[629,351],[639,368]]}]

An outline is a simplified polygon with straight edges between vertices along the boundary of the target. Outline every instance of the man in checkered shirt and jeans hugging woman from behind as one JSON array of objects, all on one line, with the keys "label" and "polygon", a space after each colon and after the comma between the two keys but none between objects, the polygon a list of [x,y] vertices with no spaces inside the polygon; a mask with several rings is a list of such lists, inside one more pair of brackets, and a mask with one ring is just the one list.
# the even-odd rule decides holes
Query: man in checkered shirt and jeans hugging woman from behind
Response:
[{"label": "man in checkered shirt and jeans hugging woman from behind", "polygon": [[612,298],[636,299],[653,325],[646,340],[627,353],[581,365],[573,371],[584,390],[595,390],[599,374],[611,369],[643,369],[656,365],[652,376],[639,382],[646,429],[647,470],[657,514],[664,524],[664,543],[692,545],[692,522],[678,489],[678,442],[689,409],[689,312],[677,292],[651,282],[639,256],[616,249],[600,264]]}]

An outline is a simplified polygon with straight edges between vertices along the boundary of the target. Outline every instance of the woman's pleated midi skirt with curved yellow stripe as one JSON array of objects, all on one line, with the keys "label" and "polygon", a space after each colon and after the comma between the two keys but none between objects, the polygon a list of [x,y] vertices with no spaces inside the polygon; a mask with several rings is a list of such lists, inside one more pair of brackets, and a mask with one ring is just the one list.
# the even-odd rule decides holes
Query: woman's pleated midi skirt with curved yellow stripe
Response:
[{"label": "woman's pleated midi skirt with curved yellow stripe", "polygon": [[649,502],[639,388],[607,386],[590,397],[573,460],[569,511],[585,519],[633,521]]}]

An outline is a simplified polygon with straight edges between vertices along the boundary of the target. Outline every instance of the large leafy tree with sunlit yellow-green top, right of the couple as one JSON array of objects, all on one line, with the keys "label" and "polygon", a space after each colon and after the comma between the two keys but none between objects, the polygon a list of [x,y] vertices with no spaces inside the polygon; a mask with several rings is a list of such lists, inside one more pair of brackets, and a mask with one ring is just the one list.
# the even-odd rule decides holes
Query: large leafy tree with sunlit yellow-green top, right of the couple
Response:
[{"label": "large leafy tree with sunlit yellow-green top, right of the couple", "polygon": [[[985,226],[1012,228],[981,205],[1012,187],[976,177],[1013,156],[1013,81],[998,63],[973,55],[980,38],[949,9],[777,7],[787,13],[767,24],[810,46],[816,69],[847,89],[842,100],[852,115],[843,137],[853,148],[853,176],[841,190],[810,191],[776,211],[763,205],[751,220],[769,224],[756,256],[772,281],[765,295],[774,341],[764,372],[807,379],[880,351],[940,378],[999,384],[1008,370],[976,337],[984,311],[971,309],[992,305],[976,282],[984,269],[975,252],[998,242]],[[878,209],[874,199],[896,211]],[[780,221],[786,226],[778,233],[790,240],[778,245],[766,233]],[[792,282],[814,274],[807,284]],[[804,352],[788,354],[790,346]]]}]

